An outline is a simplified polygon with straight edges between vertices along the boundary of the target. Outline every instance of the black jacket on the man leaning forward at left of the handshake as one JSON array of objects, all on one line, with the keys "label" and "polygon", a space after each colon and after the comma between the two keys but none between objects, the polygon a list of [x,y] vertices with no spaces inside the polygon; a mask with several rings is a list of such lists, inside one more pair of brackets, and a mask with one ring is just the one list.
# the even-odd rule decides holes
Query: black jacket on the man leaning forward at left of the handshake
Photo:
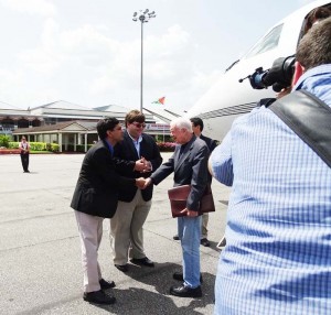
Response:
[{"label": "black jacket on the man leaning forward at left of the handshake", "polygon": [[117,208],[118,188],[134,187],[135,180],[115,171],[106,141],[99,141],[86,153],[71,207],[92,216],[111,218]]}]

